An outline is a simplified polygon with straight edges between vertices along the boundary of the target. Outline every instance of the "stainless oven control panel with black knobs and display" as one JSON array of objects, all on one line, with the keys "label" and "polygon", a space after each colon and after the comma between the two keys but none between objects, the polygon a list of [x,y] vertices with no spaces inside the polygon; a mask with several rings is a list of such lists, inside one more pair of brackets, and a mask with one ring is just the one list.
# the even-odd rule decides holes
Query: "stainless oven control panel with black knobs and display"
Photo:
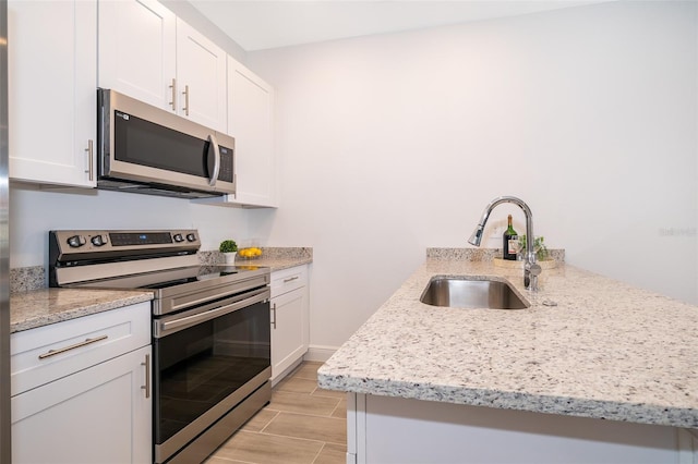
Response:
[{"label": "stainless oven control panel with black knobs and display", "polygon": [[181,230],[72,230],[50,231],[49,251],[57,261],[77,259],[84,255],[98,257],[119,254],[177,252],[196,253],[201,246],[198,231]]}]

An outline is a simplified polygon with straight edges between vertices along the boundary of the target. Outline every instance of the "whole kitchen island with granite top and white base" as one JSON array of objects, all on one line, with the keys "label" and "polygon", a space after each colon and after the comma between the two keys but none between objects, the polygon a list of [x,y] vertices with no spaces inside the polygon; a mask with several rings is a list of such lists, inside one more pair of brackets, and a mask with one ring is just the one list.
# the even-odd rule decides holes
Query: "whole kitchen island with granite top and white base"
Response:
[{"label": "whole kitchen island with granite top and white base", "polygon": [[[541,290],[429,258],[318,370],[357,462],[688,462],[698,308],[561,264]],[[506,279],[520,310],[420,302],[435,276]]]}]

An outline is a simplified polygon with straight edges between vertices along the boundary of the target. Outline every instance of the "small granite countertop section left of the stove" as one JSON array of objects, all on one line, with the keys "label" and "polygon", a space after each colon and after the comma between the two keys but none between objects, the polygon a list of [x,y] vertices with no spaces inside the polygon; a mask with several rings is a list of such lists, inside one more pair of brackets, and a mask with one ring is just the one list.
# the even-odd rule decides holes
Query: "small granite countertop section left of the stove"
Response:
[{"label": "small granite countertop section left of the stove", "polygon": [[44,289],[17,293],[10,296],[10,331],[34,329],[152,298],[153,293],[147,291]]}]

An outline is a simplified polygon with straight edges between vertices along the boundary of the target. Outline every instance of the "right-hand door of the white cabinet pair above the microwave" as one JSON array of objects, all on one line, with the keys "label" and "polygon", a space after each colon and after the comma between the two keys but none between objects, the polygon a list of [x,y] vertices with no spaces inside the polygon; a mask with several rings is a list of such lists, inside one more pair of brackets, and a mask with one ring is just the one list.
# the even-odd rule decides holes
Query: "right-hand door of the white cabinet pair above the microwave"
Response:
[{"label": "right-hand door of the white cabinet pair above the microwave", "polygon": [[226,53],[189,24],[177,21],[178,113],[226,132]]}]

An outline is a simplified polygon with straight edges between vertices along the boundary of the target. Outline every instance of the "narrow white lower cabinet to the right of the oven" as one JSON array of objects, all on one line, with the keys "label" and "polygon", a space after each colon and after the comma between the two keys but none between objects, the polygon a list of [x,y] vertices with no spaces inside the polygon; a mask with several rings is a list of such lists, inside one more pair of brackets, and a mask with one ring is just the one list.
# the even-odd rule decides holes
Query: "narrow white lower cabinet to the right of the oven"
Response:
[{"label": "narrow white lower cabinet to the right of the oven", "polygon": [[308,266],[272,272],[272,383],[308,352]]}]

